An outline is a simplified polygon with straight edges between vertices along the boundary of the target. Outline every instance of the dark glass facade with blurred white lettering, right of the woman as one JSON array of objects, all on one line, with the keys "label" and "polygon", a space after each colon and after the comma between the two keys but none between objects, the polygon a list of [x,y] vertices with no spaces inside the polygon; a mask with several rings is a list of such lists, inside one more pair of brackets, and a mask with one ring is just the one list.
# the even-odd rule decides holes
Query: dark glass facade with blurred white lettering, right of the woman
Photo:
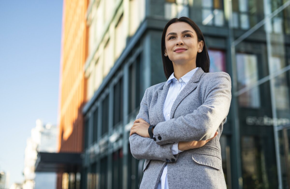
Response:
[{"label": "dark glass facade with blurred white lettering, right of the woman", "polygon": [[[240,133],[240,186],[289,188],[289,1],[234,2],[235,24],[230,29]],[[246,31],[241,33],[236,28]]]}]

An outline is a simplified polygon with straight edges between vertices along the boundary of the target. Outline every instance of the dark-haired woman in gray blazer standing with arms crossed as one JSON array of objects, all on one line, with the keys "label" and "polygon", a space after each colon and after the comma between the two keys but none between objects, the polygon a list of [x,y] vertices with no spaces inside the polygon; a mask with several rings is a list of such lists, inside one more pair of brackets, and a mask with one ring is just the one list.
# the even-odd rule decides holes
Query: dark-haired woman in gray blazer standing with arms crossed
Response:
[{"label": "dark-haired woman in gray blazer standing with arms crossed", "polygon": [[204,37],[187,17],[166,24],[161,49],[168,80],[146,89],[129,138],[146,159],[140,188],[226,188],[219,139],[231,78],[209,73]]}]

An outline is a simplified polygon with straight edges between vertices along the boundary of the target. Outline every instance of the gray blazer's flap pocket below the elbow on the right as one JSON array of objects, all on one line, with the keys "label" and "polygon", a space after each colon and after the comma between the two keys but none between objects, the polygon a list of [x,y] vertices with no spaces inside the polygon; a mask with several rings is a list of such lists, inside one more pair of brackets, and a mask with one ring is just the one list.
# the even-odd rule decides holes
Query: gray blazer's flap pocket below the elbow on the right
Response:
[{"label": "gray blazer's flap pocket below the elbow on the right", "polygon": [[191,158],[195,163],[198,163],[200,165],[206,165],[209,167],[213,167],[217,170],[222,169],[222,160],[218,158],[217,156],[212,156],[208,154],[197,154],[192,153]]}]

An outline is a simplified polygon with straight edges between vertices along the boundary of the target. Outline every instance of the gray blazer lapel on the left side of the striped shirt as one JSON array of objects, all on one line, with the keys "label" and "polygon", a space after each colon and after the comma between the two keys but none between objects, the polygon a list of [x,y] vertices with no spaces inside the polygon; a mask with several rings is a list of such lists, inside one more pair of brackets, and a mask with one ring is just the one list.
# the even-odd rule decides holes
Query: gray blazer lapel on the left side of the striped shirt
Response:
[{"label": "gray blazer lapel on the left side of the striped shirt", "polygon": [[166,85],[166,82],[165,82],[163,85],[163,88],[160,88],[157,90],[158,97],[157,97],[157,103],[156,103],[156,113],[159,118],[159,122],[165,121],[165,118],[163,115],[163,106],[164,106],[164,102],[165,102],[169,87],[170,87],[170,84]]}]

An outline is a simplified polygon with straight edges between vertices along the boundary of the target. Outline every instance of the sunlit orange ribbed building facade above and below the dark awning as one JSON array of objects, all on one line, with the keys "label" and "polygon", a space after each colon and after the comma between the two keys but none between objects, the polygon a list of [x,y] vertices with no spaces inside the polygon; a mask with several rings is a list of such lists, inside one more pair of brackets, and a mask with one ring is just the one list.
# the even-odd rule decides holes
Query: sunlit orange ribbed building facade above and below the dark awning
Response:
[{"label": "sunlit orange ribbed building facade above and below the dark awning", "polygon": [[[88,55],[87,6],[88,0],[63,2],[58,108],[59,153],[83,151],[82,108],[86,101],[84,64]],[[68,187],[69,176],[68,173],[58,173],[58,189]]]}]

